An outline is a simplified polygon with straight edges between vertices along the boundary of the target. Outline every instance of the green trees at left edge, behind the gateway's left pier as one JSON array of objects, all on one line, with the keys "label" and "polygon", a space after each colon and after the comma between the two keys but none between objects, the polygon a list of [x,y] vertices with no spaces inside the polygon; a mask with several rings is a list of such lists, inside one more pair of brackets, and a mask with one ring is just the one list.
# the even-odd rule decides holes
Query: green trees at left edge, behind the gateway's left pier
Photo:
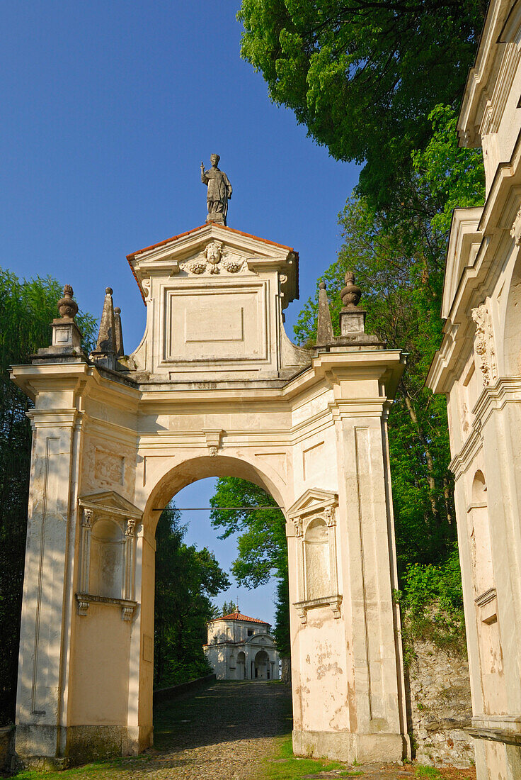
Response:
[{"label": "green trees at left edge, behind the gateway's left pier", "polygon": [[[51,343],[51,321],[62,286],[55,279],[20,280],[0,269],[0,725],[12,720],[18,669],[31,451],[26,412],[33,404],[9,380],[9,367]],[[77,317],[87,350],[96,322]]]}]

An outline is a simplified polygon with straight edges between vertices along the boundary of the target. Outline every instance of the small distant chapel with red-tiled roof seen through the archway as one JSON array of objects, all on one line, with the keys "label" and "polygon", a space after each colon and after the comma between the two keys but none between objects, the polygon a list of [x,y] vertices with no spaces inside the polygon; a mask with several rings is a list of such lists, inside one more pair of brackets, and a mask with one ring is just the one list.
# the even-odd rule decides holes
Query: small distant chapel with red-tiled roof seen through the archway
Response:
[{"label": "small distant chapel with red-tiled roof seen through the archway", "polygon": [[206,624],[206,658],[219,680],[278,680],[279,654],[270,623],[231,612]]}]

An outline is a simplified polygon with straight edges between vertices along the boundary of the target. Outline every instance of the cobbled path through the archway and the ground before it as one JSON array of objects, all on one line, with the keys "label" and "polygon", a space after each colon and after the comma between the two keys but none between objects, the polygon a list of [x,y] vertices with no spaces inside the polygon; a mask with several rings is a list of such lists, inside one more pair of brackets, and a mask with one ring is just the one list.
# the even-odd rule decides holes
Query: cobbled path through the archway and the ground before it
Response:
[{"label": "cobbled path through the archway and the ground before it", "polygon": [[[57,775],[28,777],[51,780],[266,780],[266,759],[280,758],[280,742],[291,731],[290,689],[280,683],[214,683],[198,693],[162,704],[155,717],[155,746],[140,756],[90,765]],[[266,774],[267,773],[267,774]],[[475,780],[473,770],[443,770],[442,775],[417,775],[415,768],[374,764],[345,766],[319,774],[290,778],[363,780]],[[283,775],[277,774],[283,778]],[[23,778],[23,775],[22,775]]]}]

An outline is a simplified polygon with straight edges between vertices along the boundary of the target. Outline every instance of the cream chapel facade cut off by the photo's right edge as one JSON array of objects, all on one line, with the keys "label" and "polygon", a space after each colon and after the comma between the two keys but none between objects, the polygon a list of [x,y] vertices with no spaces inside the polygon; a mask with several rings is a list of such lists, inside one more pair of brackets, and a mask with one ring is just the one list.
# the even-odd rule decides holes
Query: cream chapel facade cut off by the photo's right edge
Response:
[{"label": "cream chapel facade cut off by the photo's right edge", "polygon": [[521,5],[492,0],[459,115],[485,203],[452,218],[442,346],[478,780],[521,777]]}]

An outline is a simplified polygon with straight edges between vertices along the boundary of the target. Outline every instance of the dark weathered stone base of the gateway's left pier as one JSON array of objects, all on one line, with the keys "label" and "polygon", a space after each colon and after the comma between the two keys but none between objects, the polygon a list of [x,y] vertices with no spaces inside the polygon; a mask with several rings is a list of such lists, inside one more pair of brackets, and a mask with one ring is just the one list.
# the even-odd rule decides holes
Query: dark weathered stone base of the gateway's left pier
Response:
[{"label": "dark weathered stone base of the gateway's left pier", "polygon": [[49,725],[17,725],[15,749],[18,763],[23,767],[52,769],[58,768],[58,764],[65,768],[64,763],[85,764],[103,758],[136,755],[139,743],[132,739],[125,726],[85,725],[58,729]]}]

